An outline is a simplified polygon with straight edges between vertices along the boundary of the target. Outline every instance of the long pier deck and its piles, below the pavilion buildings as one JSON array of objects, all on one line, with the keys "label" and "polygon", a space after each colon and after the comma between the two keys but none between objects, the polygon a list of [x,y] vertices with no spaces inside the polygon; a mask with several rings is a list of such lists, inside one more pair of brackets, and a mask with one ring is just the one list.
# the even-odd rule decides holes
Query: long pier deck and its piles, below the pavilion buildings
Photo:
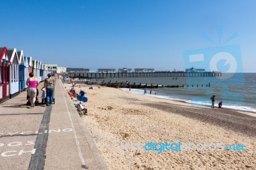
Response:
[{"label": "long pier deck and its piles, below the pavilion buildings", "polygon": [[68,73],[70,78],[103,79],[115,77],[221,77],[221,72],[129,72],[129,73]]}]

